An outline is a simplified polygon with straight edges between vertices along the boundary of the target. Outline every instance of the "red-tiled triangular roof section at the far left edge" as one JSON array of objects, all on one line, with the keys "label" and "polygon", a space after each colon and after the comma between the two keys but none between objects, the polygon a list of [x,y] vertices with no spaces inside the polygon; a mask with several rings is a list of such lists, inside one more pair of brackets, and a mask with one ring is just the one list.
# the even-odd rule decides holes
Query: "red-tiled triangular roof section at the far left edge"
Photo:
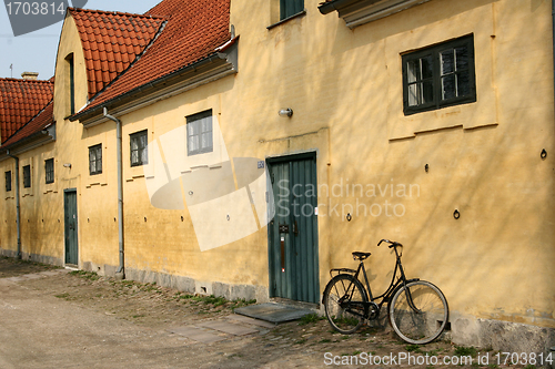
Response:
[{"label": "red-tiled triangular roof section at the far left edge", "polygon": [[53,86],[51,81],[0,79],[1,143],[52,100]]}]

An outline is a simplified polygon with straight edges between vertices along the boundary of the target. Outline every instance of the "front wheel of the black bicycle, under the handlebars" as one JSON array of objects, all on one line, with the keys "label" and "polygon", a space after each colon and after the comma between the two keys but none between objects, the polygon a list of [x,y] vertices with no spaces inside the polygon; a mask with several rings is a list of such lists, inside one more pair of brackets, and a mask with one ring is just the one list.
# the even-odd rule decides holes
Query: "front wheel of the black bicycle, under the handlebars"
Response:
[{"label": "front wheel of the black bicycle, under the handlebars", "polygon": [[411,281],[400,288],[387,310],[393,330],[404,341],[415,345],[428,344],[440,337],[448,320],[445,296],[425,280]]}]

